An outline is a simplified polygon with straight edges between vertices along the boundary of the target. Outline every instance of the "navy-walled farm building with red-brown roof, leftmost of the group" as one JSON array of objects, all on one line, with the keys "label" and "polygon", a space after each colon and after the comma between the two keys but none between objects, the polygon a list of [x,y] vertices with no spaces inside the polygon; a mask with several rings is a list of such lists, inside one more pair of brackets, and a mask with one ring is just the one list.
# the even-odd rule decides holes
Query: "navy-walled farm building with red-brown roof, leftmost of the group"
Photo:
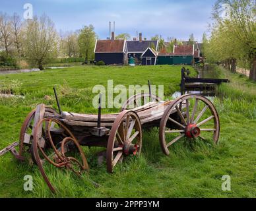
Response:
[{"label": "navy-walled farm building with red-brown roof, leftmost of the group", "polygon": [[126,65],[127,45],[125,40],[115,40],[112,32],[111,40],[96,40],[95,61],[104,61],[106,65]]}]

